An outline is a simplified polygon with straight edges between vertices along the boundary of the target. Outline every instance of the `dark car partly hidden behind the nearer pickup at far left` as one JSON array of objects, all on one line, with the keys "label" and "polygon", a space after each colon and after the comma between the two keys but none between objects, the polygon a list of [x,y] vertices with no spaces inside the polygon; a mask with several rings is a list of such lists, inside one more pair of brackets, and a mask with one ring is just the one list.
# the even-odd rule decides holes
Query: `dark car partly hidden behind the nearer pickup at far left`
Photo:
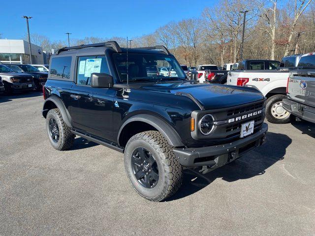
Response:
[{"label": "dark car partly hidden behind the nearer pickup at far left", "polygon": [[34,90],[41,91],[42,86],[45,85],[48,77],[47,72],[42,72],[29,64],[4,64],[15,72],[24,72],[31,74],[34,80]]}]

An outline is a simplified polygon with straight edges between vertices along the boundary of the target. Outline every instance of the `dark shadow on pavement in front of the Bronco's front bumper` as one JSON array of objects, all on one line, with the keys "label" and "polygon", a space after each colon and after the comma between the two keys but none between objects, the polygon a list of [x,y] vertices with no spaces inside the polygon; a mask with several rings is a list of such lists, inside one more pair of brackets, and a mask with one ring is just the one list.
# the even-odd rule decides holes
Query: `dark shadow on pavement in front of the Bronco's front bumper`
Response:
[{"label": "dark shadow on pavement in front of the Bronco's front bumper", "polygon": [[292,140],[284,134],[267,133],[267,142],[239,159],[206,175],[198,170],[185,170],[184,179],[178,192],[166,201],[177,200],[193,194],[211,184],[216,178],[232,182],[263,175],[270,166],[284,159],[286,148]]}]

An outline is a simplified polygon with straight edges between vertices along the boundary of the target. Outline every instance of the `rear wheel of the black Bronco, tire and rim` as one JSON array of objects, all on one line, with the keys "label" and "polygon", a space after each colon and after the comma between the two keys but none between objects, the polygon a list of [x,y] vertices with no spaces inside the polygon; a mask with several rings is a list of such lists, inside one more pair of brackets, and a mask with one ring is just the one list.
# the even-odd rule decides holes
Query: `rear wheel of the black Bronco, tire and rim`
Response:
[{"label": "rear wheel of the black Bronco, tire and rim", "polygon": [[71,148],[75,135],[70,132],[70,127],[63,121],[59,109],[50,110],[46,116],[46,129],[51,145],[57,150]]}]

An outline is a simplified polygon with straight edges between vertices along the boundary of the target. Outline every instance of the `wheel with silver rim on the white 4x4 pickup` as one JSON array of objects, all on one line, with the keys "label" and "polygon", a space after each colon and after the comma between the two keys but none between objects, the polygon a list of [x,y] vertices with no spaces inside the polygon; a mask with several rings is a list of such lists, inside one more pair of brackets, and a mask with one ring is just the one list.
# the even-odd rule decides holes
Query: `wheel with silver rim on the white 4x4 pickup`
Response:
[{"label": "wheel with silver rim on the white 4x4 pickup", "polygon": [[285,95],[277,94],[269,97],[266,104],[266,118],[271,123],[285,124],[290,121],[290,113],[284,110],[282,99]]}]

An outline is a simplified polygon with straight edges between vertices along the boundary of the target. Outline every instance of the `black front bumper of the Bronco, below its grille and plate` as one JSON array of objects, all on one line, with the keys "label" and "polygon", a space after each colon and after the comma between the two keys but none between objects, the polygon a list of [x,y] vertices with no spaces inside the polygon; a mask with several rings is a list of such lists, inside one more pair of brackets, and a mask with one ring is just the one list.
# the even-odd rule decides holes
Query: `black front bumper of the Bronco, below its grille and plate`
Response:
[{"label": "black front bumper of the Bronco, below its grille and plate", "polygon": [[216,169],[265,143],[267,131],[268,124],[263,123],[254,134],[232,143],[203,148],[174,148],[173,151],[182,166]]}]

